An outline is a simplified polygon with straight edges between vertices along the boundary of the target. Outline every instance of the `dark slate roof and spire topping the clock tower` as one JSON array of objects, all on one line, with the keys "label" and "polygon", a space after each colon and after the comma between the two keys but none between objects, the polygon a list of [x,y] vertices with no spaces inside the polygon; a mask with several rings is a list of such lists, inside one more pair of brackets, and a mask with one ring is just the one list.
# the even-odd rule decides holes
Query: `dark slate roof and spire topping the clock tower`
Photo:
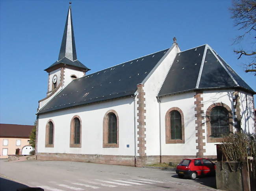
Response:
[{"label": "dark slate roof and spire topping the clock tower", "polygon": [[79,67],[81,69],[90,70],[85,65],[83,65],[79,60],[77,60],[76,56],[76,44],[74,38],[74,29],[72,22],[72,14],[71,14],[71,5],[69,5],[66,24],[64,28],[64,33],[61,41],[61,47],[59,50],[59,58],[54,64],[50,65],[45,71],[48,71],[50,68],[54,67],[58,64],[67,64],[75,67]]}]

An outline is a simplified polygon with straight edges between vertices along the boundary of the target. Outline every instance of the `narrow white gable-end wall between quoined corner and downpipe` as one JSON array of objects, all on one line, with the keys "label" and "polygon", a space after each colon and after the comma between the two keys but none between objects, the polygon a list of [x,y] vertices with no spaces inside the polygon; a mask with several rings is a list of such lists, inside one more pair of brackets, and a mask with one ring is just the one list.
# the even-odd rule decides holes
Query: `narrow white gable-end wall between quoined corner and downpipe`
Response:
[{"label": "narrow white gable-end wall between quoined corner and downpipe", "polygon": [[[180,52],[178,46],[175,46],[168,55],[164,58],[161,64],[156,68],[154,73],[150,75],[144,84],[145,104],[146,104],[146,154],[160,155],[160,140],[159,140],[159,107],[156,96],[161,89],[165,77],[173,64],[173,60],[177,53]],[[167,54],[166,53],[166,54]]]}]

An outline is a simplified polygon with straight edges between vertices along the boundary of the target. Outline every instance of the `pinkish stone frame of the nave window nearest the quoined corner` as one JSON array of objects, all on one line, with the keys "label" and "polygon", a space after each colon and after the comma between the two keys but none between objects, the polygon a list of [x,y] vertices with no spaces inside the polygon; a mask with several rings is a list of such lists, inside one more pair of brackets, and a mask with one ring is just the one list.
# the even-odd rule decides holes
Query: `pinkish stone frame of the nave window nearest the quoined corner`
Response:
[{"label": "pinkish stone frame of the nave window nearest the quoined corner", "polygon": [[[117,143],[108,143],[108,120],[109,114],[113,113],[117,118]],[[113,109],[108,110],[103,118],[103,148],[114,148],[119,147],[119,116],[117,112]]]}]

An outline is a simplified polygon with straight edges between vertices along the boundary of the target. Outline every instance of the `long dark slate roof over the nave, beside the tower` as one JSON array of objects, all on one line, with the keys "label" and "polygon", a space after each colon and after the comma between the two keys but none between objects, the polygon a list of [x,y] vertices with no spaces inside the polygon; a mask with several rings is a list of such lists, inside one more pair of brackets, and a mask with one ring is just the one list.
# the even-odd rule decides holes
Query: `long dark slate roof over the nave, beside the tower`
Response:
[{"label": "long dark slate roof over the nave, beside the tower", "polygon": [[152,53],[73,80],[38,114],[133,95],[137,84],[143,82],[167,51]]}]

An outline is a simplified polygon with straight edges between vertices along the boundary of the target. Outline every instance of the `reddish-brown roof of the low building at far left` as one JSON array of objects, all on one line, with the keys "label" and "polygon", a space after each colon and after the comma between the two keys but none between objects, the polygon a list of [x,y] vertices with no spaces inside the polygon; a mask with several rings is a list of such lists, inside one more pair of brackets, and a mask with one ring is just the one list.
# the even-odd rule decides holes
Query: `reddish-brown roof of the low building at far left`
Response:
[{"label": "reddish-brown roof of the low building at far left", "polygon": [[34,126],[0,124],[0,137],[29,138]]}]

